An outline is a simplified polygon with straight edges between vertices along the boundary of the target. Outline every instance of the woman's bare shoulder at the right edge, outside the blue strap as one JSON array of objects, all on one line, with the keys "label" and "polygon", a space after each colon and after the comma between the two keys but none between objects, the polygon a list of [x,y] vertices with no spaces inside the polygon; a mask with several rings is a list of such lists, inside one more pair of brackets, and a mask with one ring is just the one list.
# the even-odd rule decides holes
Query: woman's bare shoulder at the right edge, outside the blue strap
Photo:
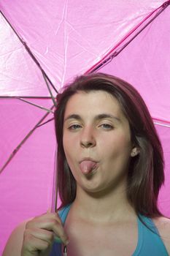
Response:
[{"label": "woman's bare shoulder at the right edge, outside the blue strap", "polygon": [[166,217],[158,217],[154,218],[153,222],[158,228],[163,243],[165,244],[166,249],[170,255],[170,219]]}]

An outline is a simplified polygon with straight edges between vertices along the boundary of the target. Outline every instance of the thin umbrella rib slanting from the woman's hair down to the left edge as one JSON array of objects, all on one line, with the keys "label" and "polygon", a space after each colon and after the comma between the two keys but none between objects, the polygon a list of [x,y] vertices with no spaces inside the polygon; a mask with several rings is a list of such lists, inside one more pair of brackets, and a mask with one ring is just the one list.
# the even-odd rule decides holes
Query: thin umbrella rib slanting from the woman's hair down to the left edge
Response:
[{"label": "thin umbrella rib slanting from the woman's hair down to the left edge", "polygon": [[[50,110],[53,110],[54,105],[50,108]],[[7,165],[9,164],[9,162],[12,160],[12,158],[15,156],[15,154],[18,152],[18,150],[20,149],[21,146],[23,146],[23,143],[26,142],[26,140],[28,140],[28,138],[33,134],[34,130],[39,127],[39,124],[42,123],[43,120],[45,120],[45,118],[49,115],[50,113],[46,113],[45,116],[43,116],[38,123],[34,126],[33,129],[31,129],[30,132],[28,132],[28,134],[26,135],[25,138],[23,138],[23,140],[18,144],[18,146],[14,149],[14,151],[12,151],[12,154],[10,154],[9,158],[7,159],[7,161],[4,163],[4,165],[1,167],[0,169],[0,174],[2,173],[2,171],[4,170],[5,167],[7,167]]]}]

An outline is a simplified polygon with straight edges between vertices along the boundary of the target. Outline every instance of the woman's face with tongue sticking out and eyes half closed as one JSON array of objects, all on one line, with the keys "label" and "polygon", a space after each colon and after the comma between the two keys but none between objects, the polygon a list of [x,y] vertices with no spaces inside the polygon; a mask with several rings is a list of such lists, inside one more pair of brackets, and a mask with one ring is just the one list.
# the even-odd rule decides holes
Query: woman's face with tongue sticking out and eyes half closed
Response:
[{"label": "woman's face with tongue sticking out and eyes half closed", "polygon": [[77,186],[101,192],[126,184],[132,143],[128,120],[105,91],[79,91],[66,104],[63,148]]}]

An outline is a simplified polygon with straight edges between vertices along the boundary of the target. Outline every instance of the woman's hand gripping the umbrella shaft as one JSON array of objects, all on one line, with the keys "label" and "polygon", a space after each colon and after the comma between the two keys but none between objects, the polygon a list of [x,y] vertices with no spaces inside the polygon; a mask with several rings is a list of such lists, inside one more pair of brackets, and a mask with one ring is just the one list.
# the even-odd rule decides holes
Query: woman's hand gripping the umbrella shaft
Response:
[{"label": "woman's hand gripping the umbrella shaft", "polygon": [[68,244],[68,238],[58,214],[47,212],[31,219],[26,223],[21,256],[38,256],[49,251],[55,236],[60,238],[63,244]]}]

